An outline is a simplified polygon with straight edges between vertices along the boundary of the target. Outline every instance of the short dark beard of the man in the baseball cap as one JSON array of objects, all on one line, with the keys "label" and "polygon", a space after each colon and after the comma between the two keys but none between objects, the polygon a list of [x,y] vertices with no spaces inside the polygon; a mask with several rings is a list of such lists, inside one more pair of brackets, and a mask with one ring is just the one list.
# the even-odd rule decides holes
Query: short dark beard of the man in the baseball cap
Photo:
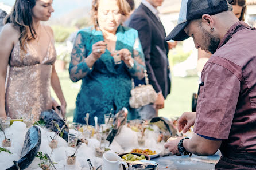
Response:
[{"label": "short dark beard of the man in the baseball cap", "polygon": [[210,53],[214,54],[220,44],[220,38],[215,37],[214,35],[208,33],[204,28],[201,28],[203,31],[203,37],[205,38],[205,44],[208,42],[208,47],[206,50],[208,50]]}]

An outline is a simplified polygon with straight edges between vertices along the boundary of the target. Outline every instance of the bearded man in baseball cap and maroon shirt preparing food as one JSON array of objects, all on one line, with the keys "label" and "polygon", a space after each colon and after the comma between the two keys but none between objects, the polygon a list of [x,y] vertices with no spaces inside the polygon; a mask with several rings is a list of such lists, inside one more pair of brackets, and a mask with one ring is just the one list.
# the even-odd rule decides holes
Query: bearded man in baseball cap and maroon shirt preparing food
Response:
[{"label": "bearded man in baseball cap and maroon shirt preparing food", "polygon": [[256,30],[232,13],[232,1],[183,0],[178,25],[166,40],[193,38],[211,52],[205,64],[196,112],[185,112],[179,131],[191,138],[165,144],[174,155],[222,157],[215,169],[256,169]]}]

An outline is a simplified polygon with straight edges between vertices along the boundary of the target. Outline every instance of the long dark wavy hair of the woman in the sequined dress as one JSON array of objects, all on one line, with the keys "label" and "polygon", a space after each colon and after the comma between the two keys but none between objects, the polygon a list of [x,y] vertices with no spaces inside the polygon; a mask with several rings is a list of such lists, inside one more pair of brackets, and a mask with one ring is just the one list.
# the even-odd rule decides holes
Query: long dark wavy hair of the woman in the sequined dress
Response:
[{"label": "long dark wavy hair of the woman in the sequined dress", "polygon": [[[7,15],[4,23],[13,23],[15,27],[20,29],[21,49],[24,49],[25,41],[36,39],[36,30],[32,22],[32,9],[36,5],[37,0],[16,0],[11,13]],[[28,37],[28,33],[31,36]]]}]

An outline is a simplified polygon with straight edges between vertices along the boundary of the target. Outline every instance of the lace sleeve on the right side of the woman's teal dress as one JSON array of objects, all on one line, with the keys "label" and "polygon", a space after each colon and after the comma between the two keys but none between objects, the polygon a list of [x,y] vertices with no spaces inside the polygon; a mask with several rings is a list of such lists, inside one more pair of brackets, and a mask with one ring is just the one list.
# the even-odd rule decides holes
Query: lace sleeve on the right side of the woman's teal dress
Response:
[{"label": "lace sleeve on the right side of the woman's teal dress", "polygon": [[[137,33],[138,35],[138,33]],[[129,69],[131,76],[138,78],[141,80],[144,78],[144,70],[146,69],[144,53],[142,50],[141,42],[139,41],[139,37],[135,39],[133,46],[133,68]]]}]

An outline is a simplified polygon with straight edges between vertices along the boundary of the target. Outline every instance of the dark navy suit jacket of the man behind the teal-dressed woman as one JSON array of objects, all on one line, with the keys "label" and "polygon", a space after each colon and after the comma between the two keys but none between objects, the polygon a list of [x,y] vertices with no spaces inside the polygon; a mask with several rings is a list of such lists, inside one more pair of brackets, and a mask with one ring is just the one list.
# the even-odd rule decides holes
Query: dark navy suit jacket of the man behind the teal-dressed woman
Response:
[{"label": "dark navy suit jacket of the man behind the teal-dressed woman", "polygon": [[170,93],[170,70],[164,26],[156,15],[141,3],[129,19],[129,27],[136,29],[145,55],[149,84],[166,98]]}]

